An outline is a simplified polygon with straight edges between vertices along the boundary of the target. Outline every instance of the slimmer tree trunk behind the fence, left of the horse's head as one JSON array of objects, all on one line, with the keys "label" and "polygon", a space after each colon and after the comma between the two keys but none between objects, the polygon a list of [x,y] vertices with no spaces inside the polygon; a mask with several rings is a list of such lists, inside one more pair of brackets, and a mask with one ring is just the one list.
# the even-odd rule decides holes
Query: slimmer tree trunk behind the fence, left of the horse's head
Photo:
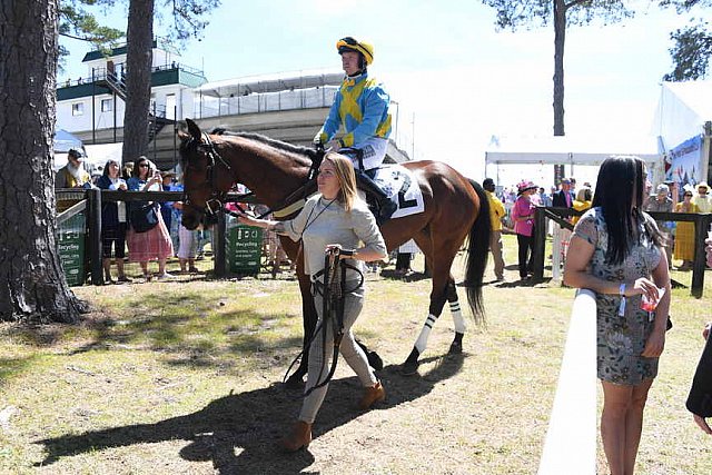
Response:
[{"label": "slimmer tree trunk behind the fence, left of the horse's head", "polygon": [[126,113],[122,160],[136,161],[148,152],[148,115],[151,101],[154,0],[131,0],[126,33]]}]

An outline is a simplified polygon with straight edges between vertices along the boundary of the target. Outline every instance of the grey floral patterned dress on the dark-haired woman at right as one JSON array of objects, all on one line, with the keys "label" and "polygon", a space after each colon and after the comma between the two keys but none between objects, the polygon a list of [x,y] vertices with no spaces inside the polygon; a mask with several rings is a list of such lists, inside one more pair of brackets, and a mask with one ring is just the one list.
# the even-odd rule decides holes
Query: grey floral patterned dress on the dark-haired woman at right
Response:
[{"label": "grey floral patterned dress on the dark-haired woman at right", "polygon": [[[643,214],[650,222],[654,220]],[[590,271],[595,277],[615,283],[633,283],[640,277],[650,277],[660,263],[660,249],[639,224],[640,240],[635,243],[625,261],[611,265],[605,261],[609,234],[601,208],[586,211],[574,228],[574,236],[594,246]],[[641,309],[641,296],[625,298],[624,315],[620,316],[621,297],[596,294],[596,340],[599,378],[609,383],[635,386],[643,379],[657,375],[657,358],[645,358],[641,354],[653,330],[653,320]]]}]

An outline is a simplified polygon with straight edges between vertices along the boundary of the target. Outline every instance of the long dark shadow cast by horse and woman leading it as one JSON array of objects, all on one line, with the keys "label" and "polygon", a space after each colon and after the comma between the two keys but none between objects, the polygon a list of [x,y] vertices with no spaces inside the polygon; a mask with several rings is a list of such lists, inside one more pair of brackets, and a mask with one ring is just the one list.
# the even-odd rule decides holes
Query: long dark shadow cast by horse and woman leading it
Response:
[{"label": "long dark shadow cast by horse and woman leading it", "polygon": [[[424,363],[437,360],[437,364],[422,377],[403,376],[399,367],[387,366],[379,372],[387,398],[374,410],[386,410],[426,396],[439,382],[455,376],[462,369],[465,357],[467,355],[463,354],[425,359]],[[356,377],[332,382],[314,426],[313,444],[319,444],[319,436],[363,414],[352,408],[360,396],[360,390]],[[61,457],[111,447],[182,439],[188,444],[180,449],[181,458],[211,462],[220,474],[300,473],[312,465],[314,456],[308,451],[283,454],[276,445],[294,424],[301,404],[297,396],[298,393],[288,392],[281,385],[273,385],[247,393],[229,394],[196,413],[155,424],[137,424],[37,441],[37,444],[44,445],[47,456],[34,466],[47,466]]]}]

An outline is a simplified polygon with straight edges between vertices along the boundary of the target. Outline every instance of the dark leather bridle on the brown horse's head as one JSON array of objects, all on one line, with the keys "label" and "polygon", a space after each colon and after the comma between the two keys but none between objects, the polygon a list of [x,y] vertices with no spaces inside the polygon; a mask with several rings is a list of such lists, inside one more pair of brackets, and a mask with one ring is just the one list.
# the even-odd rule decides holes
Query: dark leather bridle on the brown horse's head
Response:
[{"label": "dark leather bridle on the brown horse's head", "polygon": [[[210,136],[207,133],[202,133],[201,140],[196,139],[195,137],[190,137],[186,142],[186,149],[195,149],[196,151],[200,151],[201,149],[205,151],[206,158],[208,160],[208,165],[206,166],[206,179],[205,184],[198,185],[191,189],[184,189],[182,192],[182,206],[194,209],[200,215],[207,215],[209,217],[214,217],[219,211],[222,210],[225,198],[227,197],[227,191],[222,191],[217,186],[217,172],[216,169],[218,166],[222,166],[227,169],[228,174],[233,175],[233,167],[228,164],[222,156],[217,151],[215,144],[210,139]],[[186,170],[184,174],[190,168],[189,160],[186,160]],[[236,177],[233,177],[235,180]],[[210,187],[210,196],[205,201],[205,206],[200,207],[190,201],[190,197],[188,194],[199,187],[206,185]],[[249,196],[251,194],[247,194]]]}]

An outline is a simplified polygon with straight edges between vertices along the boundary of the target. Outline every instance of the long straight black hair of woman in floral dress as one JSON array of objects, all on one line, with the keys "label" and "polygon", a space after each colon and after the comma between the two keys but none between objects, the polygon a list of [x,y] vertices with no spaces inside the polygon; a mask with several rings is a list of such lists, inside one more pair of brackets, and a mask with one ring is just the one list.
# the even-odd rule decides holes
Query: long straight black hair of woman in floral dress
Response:
[{"label": "long straight black hair of woman in floral dress", "polygon": [[640,239],[640,222],[654,245],[662,246],[662,236],[642,210],[645,179],[645,164],[637,157],[612,156],[599,169],[593,207],[601,207],[603,212],[609,234],[605,260],[610,264],[625,260],[632,244]]}]

